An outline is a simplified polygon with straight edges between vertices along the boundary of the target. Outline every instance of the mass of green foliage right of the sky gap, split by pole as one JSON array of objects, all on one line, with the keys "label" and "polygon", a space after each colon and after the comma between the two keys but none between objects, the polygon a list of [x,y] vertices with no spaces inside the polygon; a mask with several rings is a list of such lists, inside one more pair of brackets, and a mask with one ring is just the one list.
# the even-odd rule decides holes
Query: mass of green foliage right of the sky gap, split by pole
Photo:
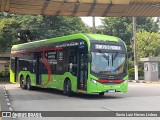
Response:
[{"label": "mass of green foliage right of the sky gap, split by pole", "polygon": [[[99,33],[113,35],[121,38],[127,44],[129,68],[134,67],[133,55],[133,29],[132,17],[106,17],[102,19],[105,29],[98,30]],[[158,31],[158,21],[150,17],[137,17],[137,41],[138,57],[160,56],[160,35],[154,33]],[[139,62],[139,68],[143,69],[143,63]],[[140,71],[139,71],[140,72]],[[134,77],[134,70],[129,71],[131,79]],[[140,72],[141,75],[141,72]]]}]

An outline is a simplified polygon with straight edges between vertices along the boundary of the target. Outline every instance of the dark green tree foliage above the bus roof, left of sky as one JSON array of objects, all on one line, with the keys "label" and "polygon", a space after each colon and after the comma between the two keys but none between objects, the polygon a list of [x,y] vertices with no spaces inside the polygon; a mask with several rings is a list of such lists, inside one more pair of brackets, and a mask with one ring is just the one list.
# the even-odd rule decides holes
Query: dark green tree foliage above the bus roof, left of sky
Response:
[{"label": "dark green tree foliage above the bus roof, left of sky", "polygon": [[79,17],[0,14],[0,52],[13,44],[89,30]]}]

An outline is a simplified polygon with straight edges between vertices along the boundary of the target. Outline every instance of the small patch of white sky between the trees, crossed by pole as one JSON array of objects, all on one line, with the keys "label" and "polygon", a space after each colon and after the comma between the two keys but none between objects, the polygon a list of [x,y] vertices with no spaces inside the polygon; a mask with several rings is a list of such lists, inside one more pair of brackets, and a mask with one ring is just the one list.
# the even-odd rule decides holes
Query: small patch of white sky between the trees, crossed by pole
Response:
[{"label": "small patch of white sky between the trees, crossed by pole", "polygon": [[[101,19],[103,17],[95,17],[95,23],[96,26],[102,25]],[[92,26],[92,17],[81,17],[82,21],[87,25],[87,26]]]}]

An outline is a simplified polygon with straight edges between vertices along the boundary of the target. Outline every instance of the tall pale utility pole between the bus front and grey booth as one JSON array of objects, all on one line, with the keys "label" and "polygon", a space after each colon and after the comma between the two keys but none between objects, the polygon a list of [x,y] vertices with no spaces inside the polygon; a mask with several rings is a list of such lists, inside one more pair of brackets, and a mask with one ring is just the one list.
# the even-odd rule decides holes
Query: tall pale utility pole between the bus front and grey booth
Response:
[{"label": "tall pale utility pole between the bus front and grey booth", "polygon": [[134,39],[134,72],[135,80],[138,80],[138,59],[137,59],[137,35],[136,35],[136,17],[133,17],[133,39]]}]

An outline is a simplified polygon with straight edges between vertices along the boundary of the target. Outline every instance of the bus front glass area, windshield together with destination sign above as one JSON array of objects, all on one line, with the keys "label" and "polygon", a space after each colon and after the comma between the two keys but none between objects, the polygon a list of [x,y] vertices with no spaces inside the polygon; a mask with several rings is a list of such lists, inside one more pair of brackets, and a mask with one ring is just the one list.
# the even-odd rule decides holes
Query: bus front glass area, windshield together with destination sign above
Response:
[{"label": "bus front glass area, windshield together with destination sign above", "polygon": [[97,77],[110,75],[123,77],[127,74],[127,53],[124,46],[104,44],[96,48],[96,44],[92,44],[90,54],[91,74]]}]

